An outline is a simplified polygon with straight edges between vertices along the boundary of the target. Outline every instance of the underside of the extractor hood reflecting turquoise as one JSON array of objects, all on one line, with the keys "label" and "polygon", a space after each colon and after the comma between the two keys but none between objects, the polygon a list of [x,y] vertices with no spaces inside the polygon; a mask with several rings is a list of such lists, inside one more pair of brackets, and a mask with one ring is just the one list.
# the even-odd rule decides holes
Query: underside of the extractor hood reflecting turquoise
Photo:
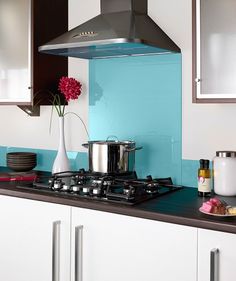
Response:
[{"label": "underside of the extractor hood reflecting turquoise", "polygon": [[60,56],[68,56],[96,59],[106,57],[122,57],[135,55],[149,55],[167,53],[169,50],[152,47],[142,43],[118,43],[89,47],[64,48],[58,50],[48,50],[45,53],[52,53]]}]

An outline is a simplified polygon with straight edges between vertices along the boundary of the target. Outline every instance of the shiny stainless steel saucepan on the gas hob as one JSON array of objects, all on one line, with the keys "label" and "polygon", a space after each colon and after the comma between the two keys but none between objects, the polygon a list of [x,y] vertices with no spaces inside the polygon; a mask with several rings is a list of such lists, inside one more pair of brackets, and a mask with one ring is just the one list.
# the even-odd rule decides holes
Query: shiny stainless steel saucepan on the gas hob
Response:
[{"label": "shiny stainless steel saucepan on the gas hob", "polygon": [[95,173],[127,173],[135,168],[134,141],[89,141],[83,144],[88,148],[89,170]]}]

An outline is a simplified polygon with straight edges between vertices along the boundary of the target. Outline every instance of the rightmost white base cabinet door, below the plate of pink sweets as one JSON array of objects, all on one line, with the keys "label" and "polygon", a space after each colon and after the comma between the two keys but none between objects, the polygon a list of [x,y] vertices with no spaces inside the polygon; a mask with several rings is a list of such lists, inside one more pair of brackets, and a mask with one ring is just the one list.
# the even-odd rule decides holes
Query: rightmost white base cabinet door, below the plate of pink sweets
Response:
[{"label": "rightmost white base cabinet door, below the plate of pink sweets", "polygon": [[236,235],[198,231],[198,281],[236,280]]}]

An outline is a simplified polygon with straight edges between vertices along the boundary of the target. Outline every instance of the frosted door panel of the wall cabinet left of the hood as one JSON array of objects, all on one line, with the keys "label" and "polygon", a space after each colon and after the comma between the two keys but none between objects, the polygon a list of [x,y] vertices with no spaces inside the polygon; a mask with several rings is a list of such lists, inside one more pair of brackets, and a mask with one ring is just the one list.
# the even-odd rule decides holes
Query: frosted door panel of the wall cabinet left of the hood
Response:
[{"label": "frosted door panel of the wall cabinet left of the hood", "polygon": [[0,0],[0,101],[30,102],[31,0]]}]

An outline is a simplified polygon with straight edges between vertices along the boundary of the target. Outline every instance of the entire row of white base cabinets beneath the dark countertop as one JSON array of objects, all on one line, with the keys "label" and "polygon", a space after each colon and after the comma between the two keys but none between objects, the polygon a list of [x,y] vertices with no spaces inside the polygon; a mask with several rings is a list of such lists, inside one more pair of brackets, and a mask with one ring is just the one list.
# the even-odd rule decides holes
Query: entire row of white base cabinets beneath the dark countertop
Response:
[{"label": "entire row of white base cabinets beneath the dark countertop", "polygon": [[231,281],[236,235],[0,196],[0,280]]}]

